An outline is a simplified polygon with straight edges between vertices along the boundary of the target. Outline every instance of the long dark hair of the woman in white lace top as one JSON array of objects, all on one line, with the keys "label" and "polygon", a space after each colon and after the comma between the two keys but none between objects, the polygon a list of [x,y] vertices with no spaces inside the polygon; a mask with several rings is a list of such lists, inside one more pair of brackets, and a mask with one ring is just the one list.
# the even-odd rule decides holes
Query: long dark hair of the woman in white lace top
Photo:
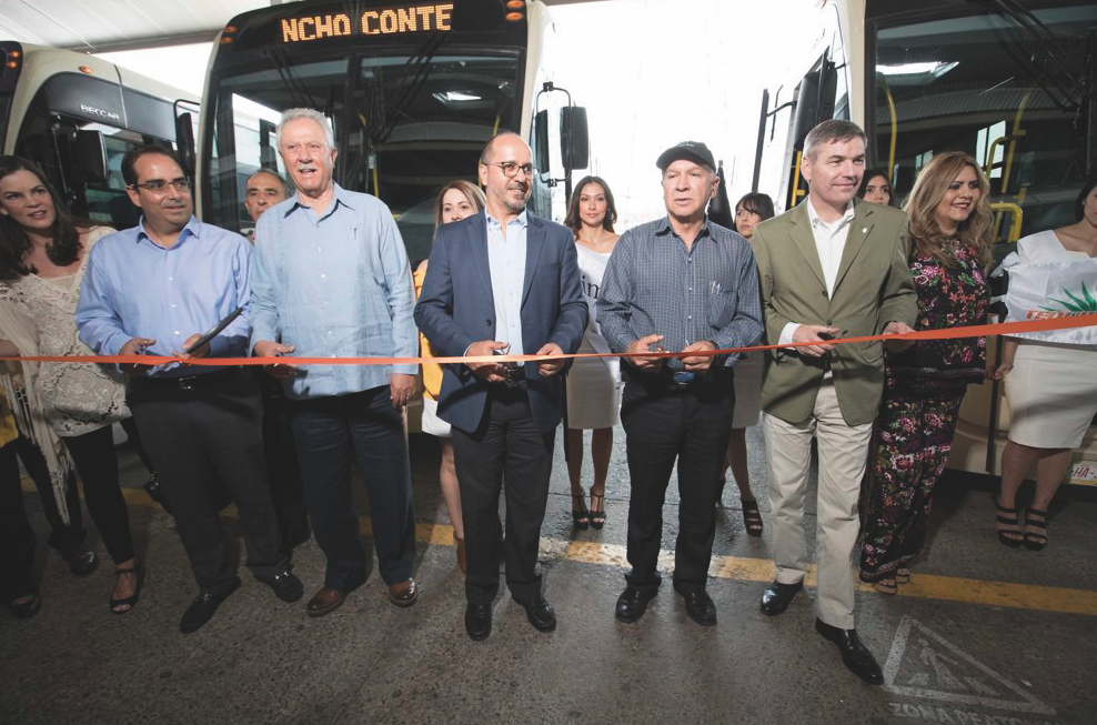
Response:
[{"label": "long dark hair of the woman in white lace top", "polygon": [[[50,230],[52,240],[46,245],[46,254],[58,266],[72,264],[80,256],[80,230],[77,229],[69,208],[33,161],[19,157],[0,157],[0,179],[17,171],[29,171],[38,177],[53,200],[54,219]],[[27,231],[10,214],[0,214],[0,280],[13,280],[38,271],[23,263],[23,258],[32,246]]]}]

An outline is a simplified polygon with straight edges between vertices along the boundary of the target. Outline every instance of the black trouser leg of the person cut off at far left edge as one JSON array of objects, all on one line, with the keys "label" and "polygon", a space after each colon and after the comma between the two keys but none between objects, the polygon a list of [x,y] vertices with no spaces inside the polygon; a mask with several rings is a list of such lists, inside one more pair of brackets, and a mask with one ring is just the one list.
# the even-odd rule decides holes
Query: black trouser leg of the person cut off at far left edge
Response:
[{"label": "black trouser leg of the person cut off at far left edge", "polygon": [[[3,604],[38,592],[32,575],[34,530],[30,527],[23,508],[19,461],[16,460],[20,441],[21,439],[12,441],[0,449],[0,602]],[[49,476],[46,480],[49,482]],[[49,496],[50,500],[53,499],[52,491]],[[77,505],[80,505],[79,500]],[[53,510],[57,511],[56,505]]]}]

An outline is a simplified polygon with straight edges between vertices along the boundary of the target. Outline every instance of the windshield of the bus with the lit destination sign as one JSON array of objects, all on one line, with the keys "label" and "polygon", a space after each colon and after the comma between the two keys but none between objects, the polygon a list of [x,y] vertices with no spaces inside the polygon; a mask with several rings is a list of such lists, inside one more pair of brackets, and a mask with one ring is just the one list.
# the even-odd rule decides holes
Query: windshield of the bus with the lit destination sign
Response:
[{"label": "windshield of the bus with the lit destination sign", "polygon": [[335,180],[392,210],[411,260],[430,253],[440,187],[475,177],[479,154],[499,129],[515,129],[522,98],[519,52],[444,54],[385,48],[374,53],[225,68],[213,79],[213,132],[207,158],[207,221],[241,232],[246,178],[284,174],[275,127],[282,111],[309,107],[332,121]]}]

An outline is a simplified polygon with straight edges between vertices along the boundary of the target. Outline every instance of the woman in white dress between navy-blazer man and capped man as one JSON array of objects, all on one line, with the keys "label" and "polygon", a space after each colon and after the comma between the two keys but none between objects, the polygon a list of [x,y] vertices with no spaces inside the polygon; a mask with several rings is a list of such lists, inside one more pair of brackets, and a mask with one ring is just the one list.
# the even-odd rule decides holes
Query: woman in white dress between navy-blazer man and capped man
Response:
[{"label": "woman in white dress between navy-blazer man and capped man", "polygon": [[[575,251],[583,282],[583,296],[591,318],[580,353],[608,353],[610,345],[595,315],[602,275],[618,234],[613,224],[617,209],[613,192],[598,177],[585,177],[576,185],[567,207],[564,225],[575,232]],[[576,528],[602,528],[605,525],[605,480],[613,451],[613,426],[621,409],[618,393],[620,361],[616,358],[578,358],[567,373],[567,476],[572,484],[572,522]],[[583,431],[592,430],[591,459],[594,483],[591,507],[583,491]]]}]

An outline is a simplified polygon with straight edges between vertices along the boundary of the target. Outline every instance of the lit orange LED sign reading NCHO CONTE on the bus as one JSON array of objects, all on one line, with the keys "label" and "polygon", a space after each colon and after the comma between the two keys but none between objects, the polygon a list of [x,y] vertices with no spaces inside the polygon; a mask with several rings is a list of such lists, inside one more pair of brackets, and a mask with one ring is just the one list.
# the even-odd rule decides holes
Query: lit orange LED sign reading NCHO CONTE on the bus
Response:
[{"label": "lit orange LED sign reading NCHO CONTE on the bus", "polygon": [[361,16],[345,12],[282,19],[282,42],[296,43],[348,36],[389,36],[452,30],[452,2],[374,8]]}]

